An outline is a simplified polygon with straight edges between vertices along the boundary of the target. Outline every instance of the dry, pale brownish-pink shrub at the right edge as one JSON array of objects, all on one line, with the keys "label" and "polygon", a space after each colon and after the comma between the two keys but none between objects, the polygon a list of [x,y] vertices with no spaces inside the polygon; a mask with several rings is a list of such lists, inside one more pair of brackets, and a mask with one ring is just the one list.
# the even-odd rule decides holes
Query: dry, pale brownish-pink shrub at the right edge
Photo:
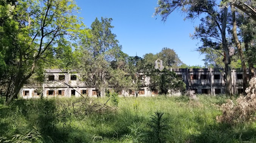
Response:
[{"label": "dry, pale brownish-pink shrub at the right edge", "polygon": [[236,104],[232,100],[221,106],[222,116],[217,116],[219,122],[236,124],[248,122],[254,118],[256,112],[256,78],[252,78],[249,87],[246,89],[247,96],[240,96]]}]

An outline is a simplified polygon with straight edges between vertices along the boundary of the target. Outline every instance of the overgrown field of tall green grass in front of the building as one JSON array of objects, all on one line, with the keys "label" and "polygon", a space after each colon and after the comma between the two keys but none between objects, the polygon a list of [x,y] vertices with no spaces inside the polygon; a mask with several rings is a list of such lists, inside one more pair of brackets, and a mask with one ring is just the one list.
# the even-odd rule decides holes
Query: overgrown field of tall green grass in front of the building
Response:
[{"label": "overgrown field of tall green grass in front of the building", "polygon": [[0,137],[31,139],[32,131],[34,142],[45,143],[255,143],[256,122],[216,121],[226,99],[121,97],[117,107],[108,98],[17,99],[10,106],[1,99]]}]

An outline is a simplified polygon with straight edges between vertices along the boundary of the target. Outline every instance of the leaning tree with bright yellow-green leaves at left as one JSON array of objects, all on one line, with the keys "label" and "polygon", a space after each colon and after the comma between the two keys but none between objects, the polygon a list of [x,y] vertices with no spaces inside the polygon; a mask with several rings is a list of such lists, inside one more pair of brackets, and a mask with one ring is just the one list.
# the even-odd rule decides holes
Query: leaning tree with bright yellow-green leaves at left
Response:
[{"label": "leaning tree with bright yellow-green leaves at left", "polygon": [[[14,8],[17,15],[16,35],[12,40],[17,51],[12,84],[6,105],[19,94],[20,88],[34,74],[38,62],[46,60],[59,43],[70,45],[78,36],[88,33],[76,15],[73,0],[19,0]],[[68,39],[68,41],[66,40]]]}]

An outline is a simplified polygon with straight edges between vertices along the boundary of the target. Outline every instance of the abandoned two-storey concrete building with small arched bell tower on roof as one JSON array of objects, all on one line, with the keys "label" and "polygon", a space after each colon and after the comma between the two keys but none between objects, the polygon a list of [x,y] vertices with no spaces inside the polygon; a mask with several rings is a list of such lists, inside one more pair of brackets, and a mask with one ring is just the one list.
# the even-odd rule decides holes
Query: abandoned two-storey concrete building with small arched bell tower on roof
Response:
[{"label": "abandoned two-storey concrete building with small arched bell tower on roof", "polygon": [[[162,70],[162,60],[158,59],[155,62],[155,68]],[[183,78],[187,90],[194,90],[198,94],[224,94],[225,93],[225,74],[222,68],[170,68],[171,71]],[[254,72],[255,73],[255,72]],[[233,94],[243,93],[242,87],[242,72],[232,71],[232,87]],[[23,98],[33,97],[79,97],[81,94],[87,94],[91,97],[97,97],[95,87],[87,87],[79,80],[77,74],[70,74],[59,69],[46,69],[45,76],[47,81],[43,84],[42,91],[35,87],[23,87],[20,90],[20,96]],[[138,96],[154,96],[157,91],[150,91],[148,84],[150,78],[143,76],[145,87],[142,87]],[[101,95],[104,96],[105,92]],[[123,96],[133,96],[134,91],[122,91]]]}]

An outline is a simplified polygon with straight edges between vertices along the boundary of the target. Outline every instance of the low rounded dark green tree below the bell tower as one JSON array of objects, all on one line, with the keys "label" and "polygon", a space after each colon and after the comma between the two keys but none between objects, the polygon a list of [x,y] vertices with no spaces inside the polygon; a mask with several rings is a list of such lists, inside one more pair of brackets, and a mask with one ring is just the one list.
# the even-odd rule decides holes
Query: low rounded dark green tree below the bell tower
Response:
[{"label": "low rounded dark green tree below the bell tower", "polygon": [[175,71],[170,71],[164,68],[162,71],[153,69],[148,72],[150,77],[149,89],[157,90],[160,94],[176,93],[186,89],[186,84],[176,75]]}]

